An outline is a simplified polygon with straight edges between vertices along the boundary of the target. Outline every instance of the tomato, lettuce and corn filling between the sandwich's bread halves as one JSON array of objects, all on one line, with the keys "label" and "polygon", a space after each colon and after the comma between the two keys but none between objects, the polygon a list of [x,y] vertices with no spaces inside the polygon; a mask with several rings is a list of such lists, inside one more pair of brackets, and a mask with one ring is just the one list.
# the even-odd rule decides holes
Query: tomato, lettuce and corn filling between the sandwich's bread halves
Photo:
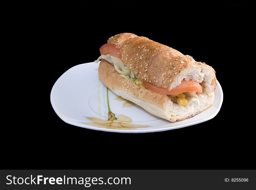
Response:
[{"label": "tomato, lettuce and corn filling between the sandwich's bread halves", "polygon": [[132,80],[136,85],[145,87],[158,94],[166,94],[174,103],[178,103],[179,105],[190,105],[193,101],[197,101],[198,104],[200,103],[198,94],[202,93],[202,86],[198,82],[183,80],[180,85],[168,91],[165,88],[147,83],[141,80],[138,75],[134,74],[131,69],[122,62],[120,49],[116,48],[116,45],[105,44],[100,48],[100,53],[101,56],[95,60],[96,63],[101,59],[107,60],[115,67],[115,70],[120,73],[120,76]]}]

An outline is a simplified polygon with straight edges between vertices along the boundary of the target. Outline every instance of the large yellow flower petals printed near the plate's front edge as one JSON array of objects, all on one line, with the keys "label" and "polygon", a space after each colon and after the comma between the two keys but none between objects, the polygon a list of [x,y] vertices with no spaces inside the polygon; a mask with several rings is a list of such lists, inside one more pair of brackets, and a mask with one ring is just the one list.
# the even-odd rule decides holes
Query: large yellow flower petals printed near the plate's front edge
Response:
[{"label": "large yellow flower petals printed near the plate's front edge", "polygon": [[132,120],[128,116],[123,114],[119,115],[117,119],[110,121],[110,120],[103,120],[94,117],[87,117],[93,123],[83,123],[89,126],[97,126],[103,127],[108,129],[120,129],[120,130],[127,130],[127,129],[136,129],[136,128],[143,128],[143,127],[150,127],[148,125],[138,125],[138,124],[131,124]]}]

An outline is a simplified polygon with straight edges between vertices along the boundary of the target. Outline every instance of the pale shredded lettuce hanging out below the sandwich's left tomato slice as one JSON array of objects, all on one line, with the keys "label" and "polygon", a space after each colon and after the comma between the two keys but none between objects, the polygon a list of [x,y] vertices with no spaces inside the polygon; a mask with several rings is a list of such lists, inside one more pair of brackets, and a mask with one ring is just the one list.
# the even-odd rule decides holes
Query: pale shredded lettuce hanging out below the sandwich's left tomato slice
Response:
[{"label": "pale shredded lettuce hanging out below the sandwich's left tomato slice", "polygon": [[138,75],[135,75],[131,69],[127,66],[125,66],[125,64],[119,59],[116,58],[114,56],[111,56],[110,54],[107,55],[101,55],[99,56],[99,58],[97,60],[95,60],[95,63],[98,63],[100,59],[105,59],[108,62],[110,62],[112,65],[114,65],[115,70],[120,73],[120,75],[124,78],[127,78],[129,80],[140,80]]}]

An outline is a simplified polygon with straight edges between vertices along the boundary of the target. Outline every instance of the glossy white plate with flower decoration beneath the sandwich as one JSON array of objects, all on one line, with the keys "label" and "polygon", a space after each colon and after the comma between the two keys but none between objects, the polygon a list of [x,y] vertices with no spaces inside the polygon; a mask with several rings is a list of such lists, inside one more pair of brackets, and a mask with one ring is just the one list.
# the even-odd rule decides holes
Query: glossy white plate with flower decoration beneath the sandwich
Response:
[{"label": "glossy white plate with flower decoration beneath the sandwich", "polygon": [[[124,99],[116,100],[118,96],[109,90],[111,111],[122,121],[117,121],[120,122],[119,124],[109,124],[108,122],[111,121],[103,121],[108,119],[106,87],[99,80],[98,64],[91,62],[72,67],[56,81],[51,90],[51,105],[63,121],[78,127],[125,133],[166,131],[192,126],[216,116],[223,101],[221,85],[218,81],[217,84],[214,103],[210,108],[189,119],[176,122],[160,119],[138,105],[129,105],[129,102]],[[92,122],[87,117],[98,119],[91,119]],[[102,126],[104,124],[96,122],[108,126]]]}]

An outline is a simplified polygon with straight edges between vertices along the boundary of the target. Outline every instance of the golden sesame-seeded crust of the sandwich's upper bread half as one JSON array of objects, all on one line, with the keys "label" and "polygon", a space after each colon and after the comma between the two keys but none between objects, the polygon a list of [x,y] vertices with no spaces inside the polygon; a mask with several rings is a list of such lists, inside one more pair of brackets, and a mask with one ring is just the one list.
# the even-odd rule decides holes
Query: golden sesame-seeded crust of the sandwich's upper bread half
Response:
[{"label": "golden sesame-seeded crust of the sandwich's upper bread half", "polygon": [[184,69],[200,66],[212,70],[215,83],[213,89],[216,88],[216,76],[212,67],[171,47],[131,33],[115,35],[109,38],[108,43],[120,48],[121,60],[134,74],[155,86],[170,91],[175,79]]}]

